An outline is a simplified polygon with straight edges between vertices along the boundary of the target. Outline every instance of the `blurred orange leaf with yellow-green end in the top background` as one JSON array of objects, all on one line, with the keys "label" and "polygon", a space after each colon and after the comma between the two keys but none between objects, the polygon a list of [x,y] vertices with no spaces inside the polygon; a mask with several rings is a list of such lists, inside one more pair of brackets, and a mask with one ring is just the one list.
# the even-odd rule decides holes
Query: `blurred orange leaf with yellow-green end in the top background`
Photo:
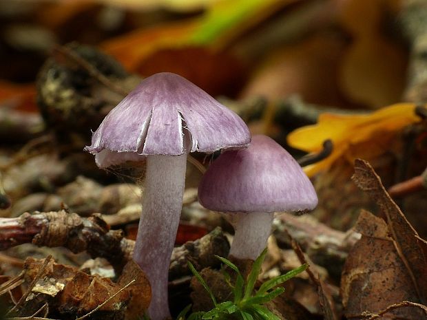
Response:
[{"label": "blurred orange leaf with yellow-green end in the top background", "polygon": [[160,50],[202,46],[220,51],[279,8],[298,1],[212,1],[199,17],[134,30],[105,41],[102,47],[121,61],[127,70],[135,71],[147,56]]}]

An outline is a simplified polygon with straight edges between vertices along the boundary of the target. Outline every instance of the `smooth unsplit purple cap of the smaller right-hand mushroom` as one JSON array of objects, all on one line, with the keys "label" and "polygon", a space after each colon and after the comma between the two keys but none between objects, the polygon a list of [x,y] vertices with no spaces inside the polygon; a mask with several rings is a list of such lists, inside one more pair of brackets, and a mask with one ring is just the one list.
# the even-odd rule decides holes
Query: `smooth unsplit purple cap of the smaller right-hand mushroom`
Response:
[{"label": "smooth unsplit purple cap of the smaller right-hand mushroom", "polygon": [[306,211],[317,205],[313,184],[295,159],[267,136],[222,153],[198,187],[200,204],[222,212]]}]

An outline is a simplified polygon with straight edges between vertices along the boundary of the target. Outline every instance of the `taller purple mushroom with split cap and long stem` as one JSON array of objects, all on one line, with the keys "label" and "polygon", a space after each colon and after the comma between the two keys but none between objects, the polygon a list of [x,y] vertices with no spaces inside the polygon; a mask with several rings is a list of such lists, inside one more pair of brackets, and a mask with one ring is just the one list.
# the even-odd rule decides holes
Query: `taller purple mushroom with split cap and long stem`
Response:
[{"label": "taller purple mushroom with split cap and long stem", "polygon": [[152,320],[170,317],[167,275],[185,186],[187,153],[247,147],[249,129],[233,111],[187,79],[163,72],[145,78],[92,135],[85,150],[98,167],[147,160],[143,213],[134,260],[152,286]]}]

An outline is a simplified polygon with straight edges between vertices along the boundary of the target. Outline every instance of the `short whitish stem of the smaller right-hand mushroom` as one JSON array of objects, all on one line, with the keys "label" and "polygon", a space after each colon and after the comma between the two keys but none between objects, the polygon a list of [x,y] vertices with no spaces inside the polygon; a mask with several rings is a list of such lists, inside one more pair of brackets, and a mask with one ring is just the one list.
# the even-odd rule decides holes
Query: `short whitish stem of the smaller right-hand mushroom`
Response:
[{"label": "short whitish stem of the smaller right-hand mushroom", "polygon": [[230,213],[228,217],[234,228],[229,255],[255,260],[267,246],[274,213]]}]

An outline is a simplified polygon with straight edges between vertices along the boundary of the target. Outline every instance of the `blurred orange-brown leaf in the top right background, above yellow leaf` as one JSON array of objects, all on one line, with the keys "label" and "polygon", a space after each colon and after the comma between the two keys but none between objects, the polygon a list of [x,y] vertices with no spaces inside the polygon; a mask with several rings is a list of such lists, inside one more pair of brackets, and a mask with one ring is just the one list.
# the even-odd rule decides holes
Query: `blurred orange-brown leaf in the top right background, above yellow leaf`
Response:
[{"label": "blurred orange-brown leaf in the top right background, above yellow leaf", "polygon": [[399,101],[406,83],[408,53],[384,32],[386,15],[397,14],[395,2],[346,0],[338,14],[352,37],[340,62],[340,89],[355,103],[375,109]]}]

